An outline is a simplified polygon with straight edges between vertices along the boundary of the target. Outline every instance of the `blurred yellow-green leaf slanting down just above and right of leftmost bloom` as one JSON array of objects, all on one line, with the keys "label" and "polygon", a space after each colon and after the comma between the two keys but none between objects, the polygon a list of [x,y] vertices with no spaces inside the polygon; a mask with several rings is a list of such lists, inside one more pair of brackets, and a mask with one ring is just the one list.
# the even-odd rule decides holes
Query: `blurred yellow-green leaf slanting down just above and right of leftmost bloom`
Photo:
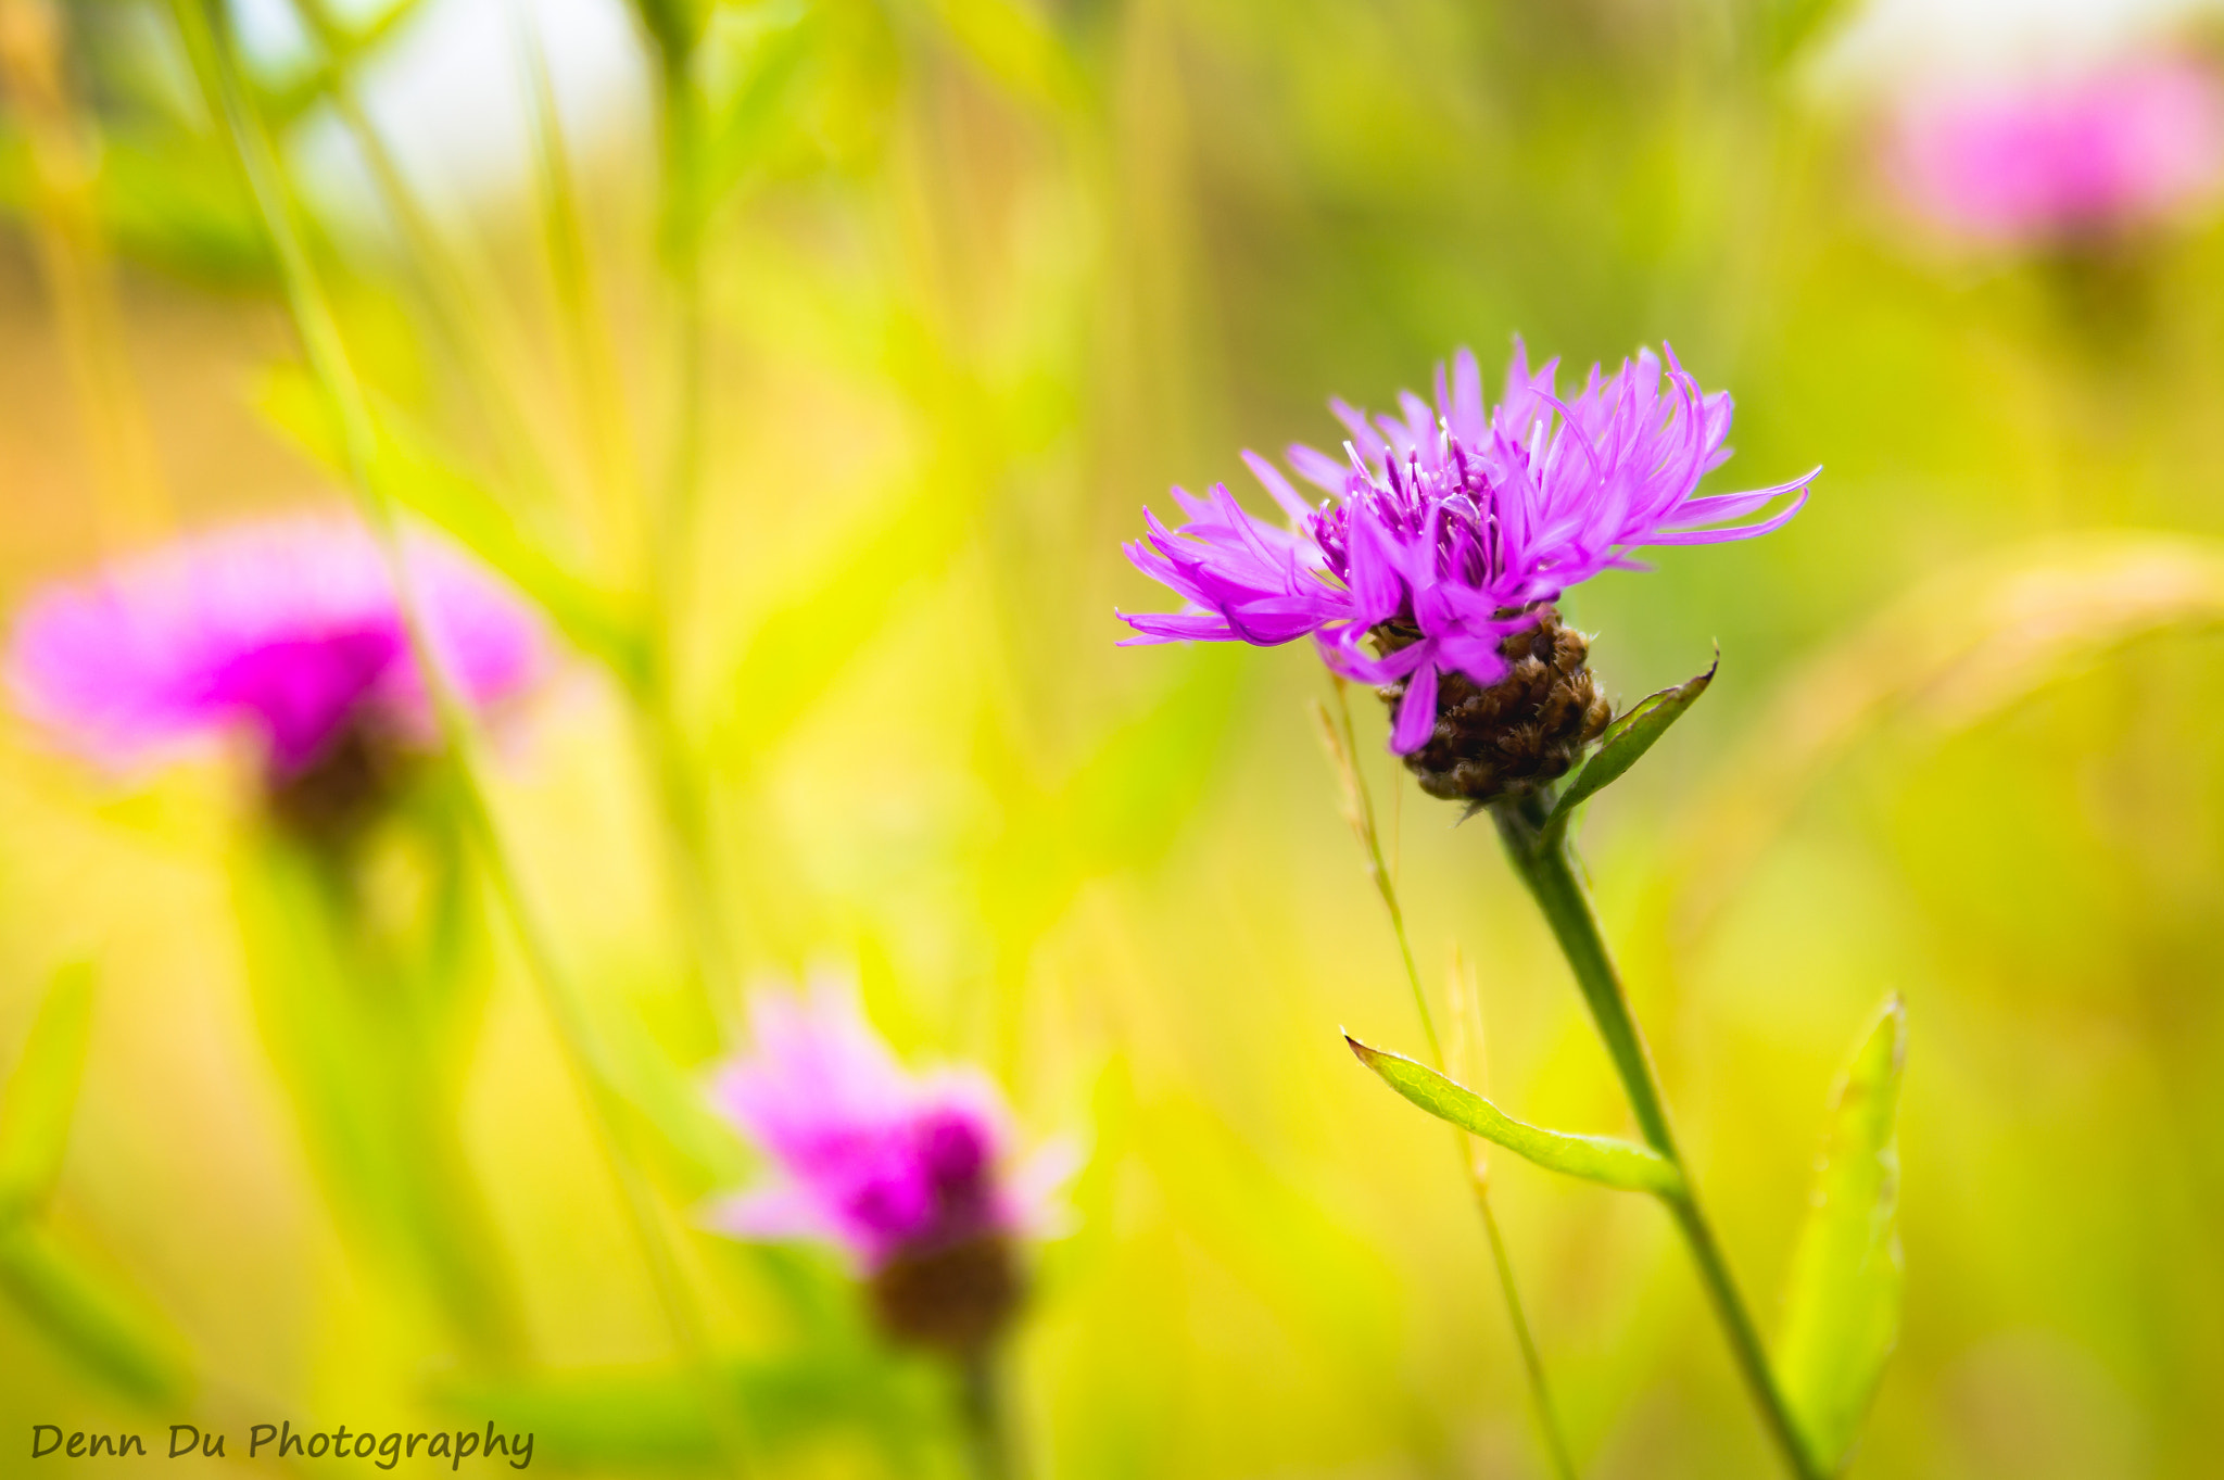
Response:
[{"label": "blurred yellow-green leaf slanting down just above and right of leftmost bloom", "polygon": [[[256,382],[254,407],[327,469],[347,471],[338,418],[307,371],[269,367]],[[645,656],[625,607],[527,533],[492,489],[443,458],[400,409],[380,402],[376,418],[380,476],[396,502],[516,582],[574,647],[636,682]]]}]

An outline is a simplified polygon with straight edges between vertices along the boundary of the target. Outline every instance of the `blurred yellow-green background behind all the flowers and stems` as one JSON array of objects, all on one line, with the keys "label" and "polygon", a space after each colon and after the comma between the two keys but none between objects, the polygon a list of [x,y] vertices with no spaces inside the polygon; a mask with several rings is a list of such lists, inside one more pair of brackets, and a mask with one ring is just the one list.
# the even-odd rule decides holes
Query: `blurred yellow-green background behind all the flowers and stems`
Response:
[{"label": "blurred yellow-green background behind all the flowers and stems", "polygon": [[[262,80],[300,109],[318,262],[391,424],[618,589],[600,493],[665,478],[676,293],[643,42],[616,4],[556,9],[607,9],[598,33],[638,51],[618,102],[567,116],[605,396],[578,369],[529,153],[440,207],[474,307],[458,353],[298,58],[271,47]],[[2217,227],[2082,262],[1942,249],[1870,167],[1875,89],[1815,82],[1830,27],[1857,18],[1790,49],[1801,7],[712,9],[707,107],[738,122],[705,171],[705,462],[669,580],[712,909],[736,978],[854,962],[907,1053],[983,1060],[1030,1138],[1088,1142],[1076,1231],[1043,1251],[1014,1351],[1041,1476],[1541,1473],[1441,1136],[1339,1042],[1339,1024],[1403,1047],[1419,1029],[1308,713],[1317,660],[1116,649],[1112,620],[1168,600],[1116,549],[1165,484],[1252,498],[1241,447],[1332,444],[1328,393],[1388,404],[1461,342],[1495,389],[1515,331],[1577,364],[1670,340],[1737,398],[1721,487],[1828,469],[1786,531],[1664,551],[1568,607],[1621,698],[1721,644],[1715,689],[1592,807],[1583,851],[1764,1324],[1833,1073],[1886,993],[1908,1002],[1906,1327],[1853,1473],[2215,1464]],[[189,80],[142,76],[162,7],[60,13],[105,133],[87,198],[169,518],[342,498],[222,140],[178,102]],[[514,67],[507,24],[480,62]],[[429,22],[389,47],[423,58],[409,27]],[[11,607],[131,527],[129,500],[102,513],[118,478],[85,427],[136,411],[82,416],[31,156],[18,109]],[[503,476],[487,376],[547,487]],[[420,484],[454,513],[440,478]],[[1495,838],[1399,787],[1359,700],[1423,973],[1441,993],[1454,942],[1472,962],[1495,1096],[1626,1129]],[[687,1089],[716,1042],[687,1009],[620,684],[578,656],[496,740],[496,807],[558,956]],[[0,1064],[56,967],[96,962],[42,1227],[189,1353],[180,1418],[218,1393],[249,1418],[414,1427],[458,1356],[320,1191],[265,1051],[234,916],[249,782],[242,756],[107,778],[0,727]],[[394,871],[407,896],[407,858]],[[465,1144],[529,1369],[669,1369],[500,927],[485,976]],[[689,1231],[701,1167],[649,1160],[718,1349],[803,1342],[767,1316],[765,1267]],[[1659,1211],[1510,1158],[1492,1187],[1586,1473],[1773,1473]],[[16,1307],[0,1371],[7,1473],[31,1422],[158,1433]],[[770,1473],[950,1462],[921,1442],[887,1458],[830,1420]],[[563,1458],[543,1438],[536,1464]]]}]

